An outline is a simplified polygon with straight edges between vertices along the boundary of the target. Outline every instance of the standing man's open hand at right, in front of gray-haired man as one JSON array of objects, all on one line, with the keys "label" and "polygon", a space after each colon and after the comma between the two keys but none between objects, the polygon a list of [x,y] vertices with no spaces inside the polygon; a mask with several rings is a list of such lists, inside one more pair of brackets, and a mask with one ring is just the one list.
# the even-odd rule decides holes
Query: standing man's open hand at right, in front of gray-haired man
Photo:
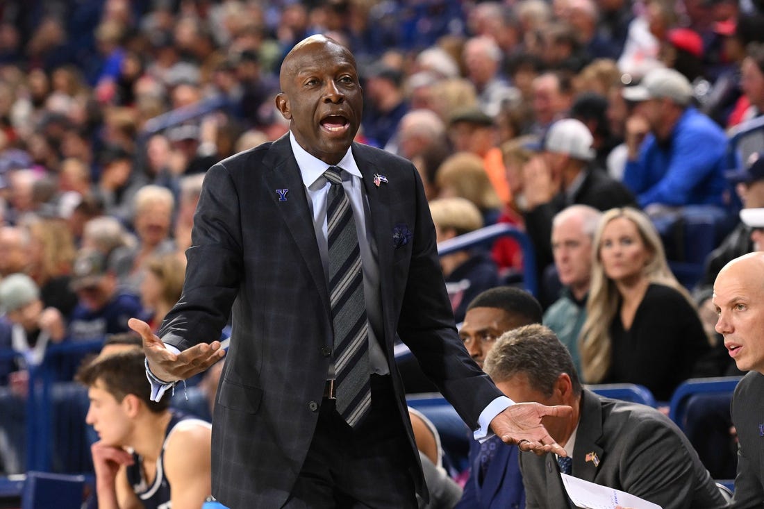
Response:
[{"label": "standing man's open hand at right, in front of gray-haired man", "polygon": [[516,403],[507,407],[490,421],[490,429],[505,443],[517,444],[521,451],[533,451],[538,455],[555,452],[568,456],[565,449],[555,443],[541,423],[545,416],[567,417],[573,413],[571,407],[562,405],[545,407],[539,403]]}]

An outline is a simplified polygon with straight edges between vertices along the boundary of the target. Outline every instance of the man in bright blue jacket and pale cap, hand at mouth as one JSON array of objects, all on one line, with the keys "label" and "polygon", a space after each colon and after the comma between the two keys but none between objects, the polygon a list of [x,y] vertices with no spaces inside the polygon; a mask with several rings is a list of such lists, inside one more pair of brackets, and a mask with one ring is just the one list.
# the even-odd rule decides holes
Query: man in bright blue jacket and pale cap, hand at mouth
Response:
[{"label": "man in bright blue jacket and pale cap, hand at mouth", "polygon": [[626,121],[623,173],[639,206],[649,214],[688,205],[724,210],[730,190],[724,179],[727,137],[694,108],[688,79],[673,69],[655,69],[622,94],[640,103]]}]

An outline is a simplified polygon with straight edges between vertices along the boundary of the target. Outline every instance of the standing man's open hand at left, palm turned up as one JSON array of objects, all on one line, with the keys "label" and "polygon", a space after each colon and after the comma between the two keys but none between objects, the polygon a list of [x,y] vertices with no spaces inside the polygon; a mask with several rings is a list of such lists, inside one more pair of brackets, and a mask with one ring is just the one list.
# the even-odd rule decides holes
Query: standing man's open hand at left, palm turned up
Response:
[{"label": "standing man's open hand at left, palm turned up", "polygon": [[225,350],[221,348],[219,341],[213,341],[209,345],[201,343],[179,354],[174,354],[164,346],[159,336],[151,332],[151,327],[144,321],[131,318],[128,320],[128,326],[141,335],[148,367],[155,377],[163,381],[191,378],[205,371],[225,355]]}]

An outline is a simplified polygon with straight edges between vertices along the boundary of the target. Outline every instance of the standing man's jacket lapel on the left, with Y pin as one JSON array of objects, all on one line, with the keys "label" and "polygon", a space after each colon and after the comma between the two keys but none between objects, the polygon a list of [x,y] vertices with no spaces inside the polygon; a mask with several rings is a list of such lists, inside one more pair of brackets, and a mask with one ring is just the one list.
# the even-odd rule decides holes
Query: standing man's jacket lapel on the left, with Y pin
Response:
[{"label": "standing man's jacket lapel on the left, with Y pin", "polygon": [[[292,154],[289,135],[284,135],[271,145],[270,151],[263,160],[267,170],[264,179],[268,188],[274,192],[270,195],[281,212],[281,217],[289,229],[303,261],[313,277],[316,288],[319,290],[325,310],[332,316],[329,306],[329,290],[327,290],[324,267],[319,254],[319,245],[316,242],[316,231],[313,229],[313,219],[308,206],[303,177],[299,173],[297,161]],[[290,190],[286,195],[286,202],[279,201],[276,190]],[[278,229],[274,229],[277,235]]]}]

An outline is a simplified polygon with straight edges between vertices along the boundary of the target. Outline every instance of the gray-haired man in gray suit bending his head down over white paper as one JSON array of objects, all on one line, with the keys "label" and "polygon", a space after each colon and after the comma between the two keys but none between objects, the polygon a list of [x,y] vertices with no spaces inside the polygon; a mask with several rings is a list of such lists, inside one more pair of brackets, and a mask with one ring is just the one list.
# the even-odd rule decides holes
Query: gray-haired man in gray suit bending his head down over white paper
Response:
[{"label": "gray-haired man in gray suit bending his head down over white paper", "polygon": [[664,509],[726,507],[681,430],[655,408],[582,389],[568,349],[547,327],[529,325],[504,334],[484,370],[513,400],[573,407],[571,416],[543,421],[568,457],[520,454],[527,508],[574,507],[561,472]]}]

